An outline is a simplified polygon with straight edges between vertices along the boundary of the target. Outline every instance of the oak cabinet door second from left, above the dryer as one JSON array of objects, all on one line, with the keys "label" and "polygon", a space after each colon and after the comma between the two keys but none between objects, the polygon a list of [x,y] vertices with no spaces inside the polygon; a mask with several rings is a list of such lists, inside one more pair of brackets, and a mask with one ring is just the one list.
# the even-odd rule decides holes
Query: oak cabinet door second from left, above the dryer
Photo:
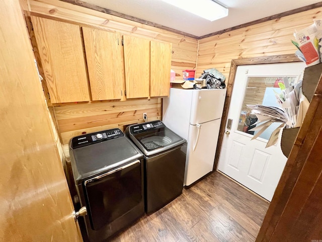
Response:
[{"label": "oak cabinet door second from left, above the dryer", "polygon": [[124,59],[115,33],[83,27],[92,100],[121,99]]}]

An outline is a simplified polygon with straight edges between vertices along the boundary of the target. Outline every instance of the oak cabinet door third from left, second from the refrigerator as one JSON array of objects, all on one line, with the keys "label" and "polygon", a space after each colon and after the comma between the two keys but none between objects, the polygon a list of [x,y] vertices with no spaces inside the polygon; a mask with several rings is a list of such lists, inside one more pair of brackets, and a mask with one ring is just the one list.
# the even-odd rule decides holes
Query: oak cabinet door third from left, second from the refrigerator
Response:
[{"label": "oak cabinet door third from left, second from the refrigerator", "polygon": [[126,98],[149,96],[150,41],[123,36]]}]

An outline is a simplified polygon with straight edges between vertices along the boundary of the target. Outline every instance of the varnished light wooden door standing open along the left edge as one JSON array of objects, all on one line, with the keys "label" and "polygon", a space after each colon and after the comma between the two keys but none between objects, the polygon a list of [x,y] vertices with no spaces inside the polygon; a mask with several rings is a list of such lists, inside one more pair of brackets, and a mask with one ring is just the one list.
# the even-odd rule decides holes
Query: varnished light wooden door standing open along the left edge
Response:
[{"label": "varnished light wooden door standing open along the left edge", "polygon": [[82,241],[18,0],[0,29],[0,241]]}]

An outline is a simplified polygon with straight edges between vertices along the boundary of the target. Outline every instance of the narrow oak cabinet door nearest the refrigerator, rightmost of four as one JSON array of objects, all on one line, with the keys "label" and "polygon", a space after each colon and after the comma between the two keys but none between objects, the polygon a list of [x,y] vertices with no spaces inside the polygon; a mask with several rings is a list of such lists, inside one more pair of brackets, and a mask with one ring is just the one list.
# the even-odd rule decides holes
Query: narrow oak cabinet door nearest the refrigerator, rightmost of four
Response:
[{"label": "narrow oak cabinet door nearest the refrigerator, rightmost of four", "polygon": [[171,43],[151,41],[150,96],[169,96]]}]

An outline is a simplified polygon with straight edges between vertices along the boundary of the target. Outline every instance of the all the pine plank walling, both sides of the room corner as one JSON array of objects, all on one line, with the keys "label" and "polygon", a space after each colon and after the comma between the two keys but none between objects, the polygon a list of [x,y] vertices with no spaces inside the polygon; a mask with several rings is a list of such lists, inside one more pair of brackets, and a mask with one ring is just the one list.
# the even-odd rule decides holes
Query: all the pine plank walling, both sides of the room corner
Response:
[{"label": "all the pine plank walling, both sides of the room corner", "polygon": [[[107,31],[171,42],[172,69],[177,73],[177,80],[182,79],[182,70],[195,68],[196,77],[205,69],[216,68],[228,78],[232,59],[294,53],[296,49],[290,42],[294,28],[306,27],[313,23],[314,18],[322,18],[322,8],[317,8],[211,36],[198,42],[191,37],[58,0],[26,1],[28,10],[32,13]],[[67,143],[75,135],[116,127],[123,129],[128,124],[142,123],[143,112],[147,112],[148,120],[162,118],[162,99],[73,104],[56,106],[53,110],[65,154],[68,156]]]}]

